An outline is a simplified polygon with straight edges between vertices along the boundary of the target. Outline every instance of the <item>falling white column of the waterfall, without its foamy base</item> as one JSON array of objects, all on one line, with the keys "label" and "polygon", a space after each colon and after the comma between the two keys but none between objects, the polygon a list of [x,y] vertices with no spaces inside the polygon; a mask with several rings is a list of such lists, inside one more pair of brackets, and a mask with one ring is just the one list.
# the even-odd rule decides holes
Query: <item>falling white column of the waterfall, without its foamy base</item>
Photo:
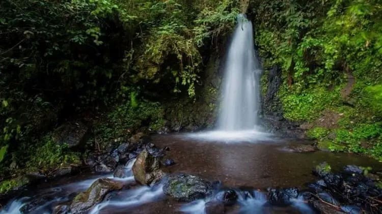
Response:
[{"label": "falling white column of the waterfall, without its foamy base", "polygon": [[255,56],[252,23],[241,14],[237,22],[224,68],[223,100],[217,120],[221,131],[255,129],[258,123],[261,69]]}]

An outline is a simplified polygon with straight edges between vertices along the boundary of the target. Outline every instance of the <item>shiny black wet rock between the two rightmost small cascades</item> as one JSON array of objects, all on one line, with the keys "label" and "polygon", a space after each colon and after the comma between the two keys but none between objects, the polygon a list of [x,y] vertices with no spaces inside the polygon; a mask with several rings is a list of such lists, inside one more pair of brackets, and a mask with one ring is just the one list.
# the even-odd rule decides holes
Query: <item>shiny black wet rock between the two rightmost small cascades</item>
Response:
[{"label": "shiny black wet rock between the two rightmost small cascades", "polygon": [[291,199],[296,199],[297,196],[297,188],[270,189],[268,190],[267,199],[272,205],[287,206],[292,203]]}]

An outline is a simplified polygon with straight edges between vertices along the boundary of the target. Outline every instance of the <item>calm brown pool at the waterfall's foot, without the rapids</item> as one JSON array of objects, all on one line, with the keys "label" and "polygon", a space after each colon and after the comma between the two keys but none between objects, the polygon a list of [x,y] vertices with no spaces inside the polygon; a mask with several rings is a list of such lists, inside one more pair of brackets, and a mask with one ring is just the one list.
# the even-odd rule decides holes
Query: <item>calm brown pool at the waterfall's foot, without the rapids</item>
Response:
[{"label": "calm brown pool at the waterfall's foot, without the rapids", "polygon": [[[278,140],[249,143],[219,143],[200,141],[184,135],[156,135],[153,143],[169,146],[167,156],[177,163],[165,168],[168,172],[195,174],[209,180],[221,180],[228,187],[301,187],[313,182],[312,169],[328,162],[333,170],[344,165],[371,166],[382,169],[374,159],[356,154],[316,151],[297,153],[283,149],[305,143],[301,140]],[[311,143],[308,141],[307,143]]]}]

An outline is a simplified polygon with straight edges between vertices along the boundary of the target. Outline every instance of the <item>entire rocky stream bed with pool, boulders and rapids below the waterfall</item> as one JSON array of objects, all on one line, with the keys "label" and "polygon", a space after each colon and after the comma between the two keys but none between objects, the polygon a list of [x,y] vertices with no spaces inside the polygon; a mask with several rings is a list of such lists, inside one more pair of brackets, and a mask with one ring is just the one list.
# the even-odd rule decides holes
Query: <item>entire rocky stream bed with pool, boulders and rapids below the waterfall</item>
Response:
[{"label": "entire rocky stream bed with pool, boulders and rapids below the waterfall", "polygon": [[381,213],[382,164],[310,141],[138,136],[89,170],[41,179],[0,213]]}]

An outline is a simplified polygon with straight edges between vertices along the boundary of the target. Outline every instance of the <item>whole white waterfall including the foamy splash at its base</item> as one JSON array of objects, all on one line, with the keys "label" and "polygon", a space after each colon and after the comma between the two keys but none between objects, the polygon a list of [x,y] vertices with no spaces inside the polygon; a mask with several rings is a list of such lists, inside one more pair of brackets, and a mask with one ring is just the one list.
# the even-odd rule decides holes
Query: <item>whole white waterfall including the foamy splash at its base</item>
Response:
[{"label": "whole white waterfall including the foamy splash at its base", "polygon": [[261,67],[256,58],[252,22],[243,14],[237,16],[224,72],[216,129],[186,137],[227,143],[271,141],[271,134],[259,126]]}]

